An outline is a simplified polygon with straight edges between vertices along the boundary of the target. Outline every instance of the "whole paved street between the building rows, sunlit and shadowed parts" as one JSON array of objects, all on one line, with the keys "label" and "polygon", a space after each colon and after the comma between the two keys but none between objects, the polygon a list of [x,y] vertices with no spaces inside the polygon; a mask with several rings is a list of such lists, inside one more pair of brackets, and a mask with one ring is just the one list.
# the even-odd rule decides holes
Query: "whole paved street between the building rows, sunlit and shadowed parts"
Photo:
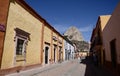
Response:
[{"label": "whole paved street between the building rows, sunlit and shadowed parts", "polygon": [[96,67],[89,60],[78,59],[59,64],[46,65],[6,76],[113,76],[103,68]]}]

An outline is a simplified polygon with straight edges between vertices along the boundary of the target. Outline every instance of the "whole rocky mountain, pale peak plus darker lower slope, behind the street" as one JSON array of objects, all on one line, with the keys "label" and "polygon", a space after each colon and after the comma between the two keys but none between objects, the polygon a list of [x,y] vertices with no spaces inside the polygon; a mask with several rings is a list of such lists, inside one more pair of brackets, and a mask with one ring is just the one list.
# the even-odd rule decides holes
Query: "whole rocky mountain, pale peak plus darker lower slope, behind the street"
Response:
[{"label": "whole rocky mountain, pale peak plus darker lower slope, behind the street", "polygon": [[76,45],[76,51],[89,50],[89,43],[84,41],[82,33],[74,26],[71,26],[65,33],[64,37]]}]

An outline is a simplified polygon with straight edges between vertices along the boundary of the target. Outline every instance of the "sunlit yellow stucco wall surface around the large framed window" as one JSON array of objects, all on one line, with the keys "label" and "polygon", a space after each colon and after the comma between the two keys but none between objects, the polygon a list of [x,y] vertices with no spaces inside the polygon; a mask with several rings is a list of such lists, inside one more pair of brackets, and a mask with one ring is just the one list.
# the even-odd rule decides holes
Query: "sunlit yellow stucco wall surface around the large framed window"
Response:
[{"label": "sunlit yellow stucco wall surface around the large framed window", "polygon": [[4,52],[2,59],[2,68],[10,68],[16,66],[14,64],[15,56],[15,28],[22,29],[30,33],[30,41],[28,41],[26,50],[26,64],[40,64],[40,48],[41,48],[41,29],[42,23],[27,12],[17,3],[10,3],[7,31],[4,43]]}]

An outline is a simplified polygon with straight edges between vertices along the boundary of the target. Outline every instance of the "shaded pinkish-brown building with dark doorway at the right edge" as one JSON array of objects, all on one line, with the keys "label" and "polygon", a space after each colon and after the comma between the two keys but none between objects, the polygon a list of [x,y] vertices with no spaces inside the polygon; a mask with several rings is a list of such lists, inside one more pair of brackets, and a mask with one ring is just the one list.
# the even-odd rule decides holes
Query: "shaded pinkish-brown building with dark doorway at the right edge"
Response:
[{"label": "shaded pinkish-brown building with dark doorway at the right edge", "polygon": [[[103,30],[106,66],[120,75],[120,3]],[[118,75],[118,76],[119,76]]]}]

